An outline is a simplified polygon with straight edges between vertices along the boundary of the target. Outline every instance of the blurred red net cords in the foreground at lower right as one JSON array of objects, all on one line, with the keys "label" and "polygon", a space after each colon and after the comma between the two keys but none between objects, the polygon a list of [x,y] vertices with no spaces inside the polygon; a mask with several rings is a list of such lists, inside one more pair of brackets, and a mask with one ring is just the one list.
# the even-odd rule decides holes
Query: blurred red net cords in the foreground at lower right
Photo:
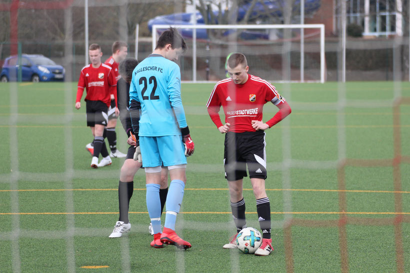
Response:
[{"label": "blurred red net cords in the foreground at lower right", "polygon": [[[405,272],[404,268],[404,252],[402,241],[401,223],[410,223],[410,216],[402,211],[402,187],[401,187],[401,164],[410,164],[410,156],[401,155],[401,125],[400,125],[400,106],[410,105],[410,97],[402,97],[395,101],[393,105],[393,146],[394,157],[391,159],[346,159],[340,162],[337,170],[338,179],[338,203],[339,203],[339,219],[338,220],[306,220],[306,219],[291,219],[284,228],[284,245],[286,258],[286,271],[293,272],[293,251],[292,251],[292,234],[291,227],[337,227],[340,249],[340,266],[341,272],[349,272],[348,252],[347,252],[347,231],[346,225],[360,226],[394,226],[394,245],[396,253],[396,269],[397,272]],[[345,169],[346,167],[392,167],[392,181],[394,193],[394,212],[393,217],[389,218],[359,218],[349,217],[347,212],[346,202],[346,187],[345,187]],[[351,213],[353,214],[353,213]],[[359,214],[359,213],[357,213]]]}]

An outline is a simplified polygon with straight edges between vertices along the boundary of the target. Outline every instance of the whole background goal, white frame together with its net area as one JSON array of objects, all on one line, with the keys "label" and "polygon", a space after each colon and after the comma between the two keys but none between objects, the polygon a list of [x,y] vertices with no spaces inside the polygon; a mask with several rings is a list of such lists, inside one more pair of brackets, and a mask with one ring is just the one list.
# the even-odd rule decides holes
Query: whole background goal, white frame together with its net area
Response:
[{"label": "whole background goal, white frame together with its net area", "polygon": [[[231,52],[246,56],[249,73],[275,82],[324,82],[323,24],[171,25],[188,50],[180,60],[182,80],[217,81],[226,77]],[[169,25],[152,26],[152,49]]]}]

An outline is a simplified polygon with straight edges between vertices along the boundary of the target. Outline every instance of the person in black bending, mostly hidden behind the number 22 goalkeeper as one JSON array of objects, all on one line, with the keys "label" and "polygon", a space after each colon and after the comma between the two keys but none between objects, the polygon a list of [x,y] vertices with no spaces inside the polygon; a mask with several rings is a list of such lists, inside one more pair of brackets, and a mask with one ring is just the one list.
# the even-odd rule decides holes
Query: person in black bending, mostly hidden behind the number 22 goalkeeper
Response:
[{"label": "person in black bending, mostly hidden behind the number 22 goalkeeper", "polygon": [[[119,219],[115,223],[114,230],[109,235],[109,238],[121,237],[124,232],[131,228],[128,220],[129,200],[132,197],[134,188],[133,178],[135,173],[141,168],[142,164],[135,158],[136,147],[139,146],[138,139],[133,139],[135,133],[132,131],[131,118],[128,112],[129,102],[129,82],[131,81],[132,70],[138,64],[138,61],[133,58],[124,59],[119,63],[119,74],[121,78],[117,81],[117,104],[119,110],[119,120],[122,123],[126,134],[128,135],[127,143],[130,145],[126,154],[126,159],[121,167],[118,183],[118,203],[119,203]],[[132,136],[133,135],[133,136]],[[139,148],[139,147],[138,147]],[[140,156],[140,154],[139,154]],[[161,213],[165,204],[166,194],[168,192],[168,169],[162,168],[161,183],[159,188],[159,199],[161,203]],[[153,235],[152,226],[148,227],[149,232]]]}]

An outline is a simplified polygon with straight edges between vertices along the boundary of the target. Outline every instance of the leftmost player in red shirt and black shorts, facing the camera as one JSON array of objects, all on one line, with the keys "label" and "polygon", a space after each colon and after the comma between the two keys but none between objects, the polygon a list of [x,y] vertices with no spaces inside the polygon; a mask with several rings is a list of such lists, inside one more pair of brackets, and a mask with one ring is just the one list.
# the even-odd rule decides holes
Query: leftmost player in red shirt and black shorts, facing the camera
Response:
[{"label": "leftmost player in red shirt and black shorts, facing the camera", "polygon": [[[98,168],[111,164],[107,148],[104,142],[104,128],[108,123],[108,107],[111,104],[111,89],[116,87],[115,75],[111,67],[101,63],[101,48],[93,43],[88,48],[89,60],[91,64],[84,66],[78,80],[77,97],[75,108],[81,107],[81,97],[86,89],[85,106],[87,116],[87,126],[91,128],[94,136],[93,156],[91,167]],[[116,93],[115,93],[116,94]],[[114,97],[116,104],[116,95]],[[102,160],[98,163],[99,154]]]}]

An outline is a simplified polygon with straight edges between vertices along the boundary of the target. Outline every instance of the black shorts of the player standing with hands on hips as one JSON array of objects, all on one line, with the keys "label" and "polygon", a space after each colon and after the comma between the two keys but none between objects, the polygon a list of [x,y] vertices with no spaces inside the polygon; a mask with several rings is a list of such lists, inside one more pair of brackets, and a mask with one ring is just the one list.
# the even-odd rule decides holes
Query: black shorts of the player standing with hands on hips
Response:
[{"label": "black shorts of the player standing with hands on hips", "polygon": [[227,132],[225,135],[223,165],[225,178],[235,181],[246,177],[266,179],[265,132]]}]

